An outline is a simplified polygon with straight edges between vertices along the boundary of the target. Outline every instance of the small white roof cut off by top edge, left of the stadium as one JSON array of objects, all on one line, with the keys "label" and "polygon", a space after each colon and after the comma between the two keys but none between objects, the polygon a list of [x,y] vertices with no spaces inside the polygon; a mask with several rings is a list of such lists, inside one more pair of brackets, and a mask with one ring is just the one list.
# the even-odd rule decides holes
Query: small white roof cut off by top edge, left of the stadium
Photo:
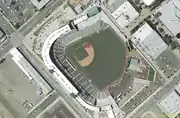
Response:
[{"label": "small white roof cut off by top edge, left of the stadium", "polygon": [[30,0],[30,1],[34,6],[36,6],[40,10],[51,0]]}]

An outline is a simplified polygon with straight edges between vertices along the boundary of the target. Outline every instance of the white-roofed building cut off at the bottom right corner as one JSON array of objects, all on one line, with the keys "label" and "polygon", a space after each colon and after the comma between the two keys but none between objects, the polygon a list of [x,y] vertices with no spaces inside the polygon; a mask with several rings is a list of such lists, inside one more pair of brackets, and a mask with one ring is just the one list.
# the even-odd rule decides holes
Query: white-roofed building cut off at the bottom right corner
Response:
[{"label": "white-roofed building cut off at the bottom right corner", "polygon": [[175,118],[180,114],[180,91],[175,88],[167,96],[158,102],[160,109],[166,113],[169,118]]}]

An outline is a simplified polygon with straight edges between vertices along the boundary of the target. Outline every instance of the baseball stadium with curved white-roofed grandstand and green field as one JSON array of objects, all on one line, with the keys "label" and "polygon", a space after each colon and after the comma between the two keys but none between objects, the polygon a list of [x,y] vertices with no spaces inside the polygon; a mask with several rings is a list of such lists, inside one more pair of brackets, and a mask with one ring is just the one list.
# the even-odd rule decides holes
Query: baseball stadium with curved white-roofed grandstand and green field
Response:
[{"label": "baseball stadium with curved white-roofed grandstand and green field", "polygon": [[42,50],[44,63],[57,82],[91,105],[122,78],[126,54],[122,39],[103,21],[79,31],[66,25],[48,37]]}]

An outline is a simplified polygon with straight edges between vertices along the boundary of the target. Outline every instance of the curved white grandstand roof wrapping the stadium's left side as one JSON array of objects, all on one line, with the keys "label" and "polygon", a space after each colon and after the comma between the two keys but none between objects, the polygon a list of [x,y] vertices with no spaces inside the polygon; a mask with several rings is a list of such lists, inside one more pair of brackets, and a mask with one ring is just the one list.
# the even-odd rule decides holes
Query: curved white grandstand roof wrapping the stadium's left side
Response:
[{"label": "curved white grandstand roof wrapping the stadium's left side", "polygon": [[[94,105],[90,105],[88,103],[86,103],[83,99],[82,99],[82,94],[80,94],[80,90],[76,89],[76,87],[66,78],[66,76],[64,75],[65,73],[62,73],[60,71],[59,67],[56,67],[56,65],[53,63],[53,61],[51,60],[50,57],[50,50],[51,50],[51,46],[53,45],[53,43],[62,35],[67,34],[68,32],[70,32],[71,29],[69,27],[69,25],[65,25],[64,27],[54,31],[45,41],[43,48],[42,48],[42,57],[44,60],[45,65],[47,66],[47,68],[49,70],[53,70],[52,74],[57,78],[56,81],[60,84],[62,84],[68,91],[69,94],[73,94],[76,97],[76,100],[85,108],[95,111],[95,112],[99,112],[100,108],[96,107]],[[61,44],[63,46],[63,44]],[[60,52],[61,53],[61,52]],[[60,56],[60,55],[59,55]],[[64,59],[64,62],[68,61],[66,59]],[[63,66],[63,65],[62,65]],[[73,68],[73,66],[71,66],[70,68],[71,70],[75,71],[75,69]],[[67,73],[66,73],[67,75]],[[68,74],[69,77],[70,74]],[[78,76],[82,76],[81,73],[77,73],[76,75]],[[79,77],[78,77],[79,78]],[[82,77],[80,77],[82,78]],[[82,92],[81,92],[82,93]],[[79,96],[80,95],[80,96]],[[91,97],[89,97],[91,98]]]}]

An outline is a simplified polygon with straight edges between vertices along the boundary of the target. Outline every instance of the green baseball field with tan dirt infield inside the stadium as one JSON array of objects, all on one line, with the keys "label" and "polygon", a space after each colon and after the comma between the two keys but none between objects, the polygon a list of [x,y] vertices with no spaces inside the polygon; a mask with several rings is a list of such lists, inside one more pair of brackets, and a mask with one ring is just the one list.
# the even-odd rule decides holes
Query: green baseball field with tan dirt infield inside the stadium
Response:
[{"label": "green baseball field with tan dirt infield inside the stadium", "polygon": [[65,54],[100,90],[117,80],[124,72],[126,47],[112,28],[103,29],[69,44]]}]

